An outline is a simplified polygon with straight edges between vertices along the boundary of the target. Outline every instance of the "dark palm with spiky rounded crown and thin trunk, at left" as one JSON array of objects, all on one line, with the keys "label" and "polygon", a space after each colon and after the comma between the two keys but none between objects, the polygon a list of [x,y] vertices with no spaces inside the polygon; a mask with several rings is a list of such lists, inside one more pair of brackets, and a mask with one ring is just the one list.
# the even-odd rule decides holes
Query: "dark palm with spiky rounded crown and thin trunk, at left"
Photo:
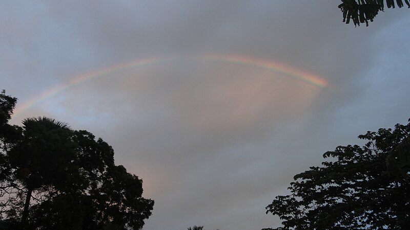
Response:
[{"label": "dark palm with spiky rounded crown and thin trunk, at left", "polygon": [[[64,181],[66,168],[75,155],[67,124],[49,118],[32,118],[23,121],[22,138],[8,151],[14,180],[19,188],[17,197],[24,200],[21,222],[29,214],[34,191],[44,187],[57,187]],[[43,191],[42,191],[43,192]],[[16,210],[17,211],[17,210]]]}]

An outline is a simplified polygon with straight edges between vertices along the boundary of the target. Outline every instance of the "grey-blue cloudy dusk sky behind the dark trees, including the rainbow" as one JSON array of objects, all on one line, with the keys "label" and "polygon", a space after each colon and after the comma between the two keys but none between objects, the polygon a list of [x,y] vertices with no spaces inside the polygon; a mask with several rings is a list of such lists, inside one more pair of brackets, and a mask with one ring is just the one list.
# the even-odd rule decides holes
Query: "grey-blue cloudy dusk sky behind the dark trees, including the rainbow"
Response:
[{"label": "grey-blue cloudy dusk sky behind the dark trees, including the rainbow", "polygon": [[145,230],[280,226],[297,173],[410,118],[410,11],[340,1],[0,1],[11,123],[88,130],[155,200]]}]

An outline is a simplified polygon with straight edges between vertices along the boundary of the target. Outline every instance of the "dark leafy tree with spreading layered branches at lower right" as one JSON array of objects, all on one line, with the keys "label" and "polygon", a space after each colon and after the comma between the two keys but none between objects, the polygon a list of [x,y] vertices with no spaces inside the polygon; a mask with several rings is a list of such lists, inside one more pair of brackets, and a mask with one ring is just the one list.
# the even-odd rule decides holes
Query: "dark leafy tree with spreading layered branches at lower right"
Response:
[{"label": "dark leafy tree with spreading layered branches at lower right", "polygon": [[368,142],[339,146],[323,154],[333,161],[295,175],[290,195],[266,207],[283,226],[266,229],[410,229],[410,123],[359,139]]}]

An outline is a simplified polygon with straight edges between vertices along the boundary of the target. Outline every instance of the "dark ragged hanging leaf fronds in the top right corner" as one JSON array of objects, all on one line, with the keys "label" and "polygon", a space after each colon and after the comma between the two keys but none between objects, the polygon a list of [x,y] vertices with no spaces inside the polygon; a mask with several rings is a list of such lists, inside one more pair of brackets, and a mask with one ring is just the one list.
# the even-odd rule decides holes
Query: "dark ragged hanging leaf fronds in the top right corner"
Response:
[{"label": "dark ragged hanging leaf fronds in the top right corner", "polygon": [[[343,13],[343,22],[349,24],[350,19],[353,20],[355,26],[360,26],[361,23],[373,21],[379,11],[384,11],[384,0],[341,0],[342,4],[339,5],[340,10]],[[404,0],[407,7],[410,8],[408,0]],[[402,0],[396,0],[399,8],[403,7]],[[386,0],[387,8],[395,8],[394,0]]]}]

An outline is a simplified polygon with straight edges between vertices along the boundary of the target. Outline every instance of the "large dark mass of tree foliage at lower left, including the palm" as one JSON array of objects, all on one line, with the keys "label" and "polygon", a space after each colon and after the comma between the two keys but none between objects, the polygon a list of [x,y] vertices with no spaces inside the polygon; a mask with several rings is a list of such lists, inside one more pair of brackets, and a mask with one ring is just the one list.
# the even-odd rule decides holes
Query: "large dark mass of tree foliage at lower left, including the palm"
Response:
[{"label": "large dark mass of tree foliage at lower left, including the palm", "polygon": [[141,229],[154,201],[112,147],[50,118],[11,126],[15,102],[0,95],[0,228]]}]

